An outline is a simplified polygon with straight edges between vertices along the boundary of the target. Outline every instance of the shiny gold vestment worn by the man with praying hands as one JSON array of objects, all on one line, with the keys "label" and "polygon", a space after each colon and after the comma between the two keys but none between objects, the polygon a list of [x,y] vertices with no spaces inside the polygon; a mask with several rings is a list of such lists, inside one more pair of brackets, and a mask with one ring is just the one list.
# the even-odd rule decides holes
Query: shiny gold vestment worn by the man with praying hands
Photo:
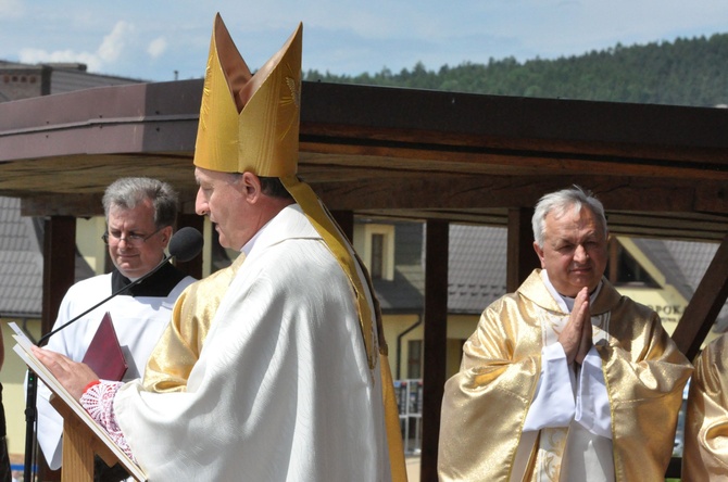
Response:
[{"label": "shiny gold vestment worn by the man with praying hands", "polygon": [[[460,372],[448,380],[442,401],[441,481],[511,480],[541,371],[541,321],[568,317],[539,274],[492,303],[463,347]],[[606,279],[590,312],[610,320],[594,344],[610,397],[616,480],[663,480],[691,365],[657,315]],[[538,437],[530,440],[532,454]],[[524,480],[532,470],[529,464]]]}]

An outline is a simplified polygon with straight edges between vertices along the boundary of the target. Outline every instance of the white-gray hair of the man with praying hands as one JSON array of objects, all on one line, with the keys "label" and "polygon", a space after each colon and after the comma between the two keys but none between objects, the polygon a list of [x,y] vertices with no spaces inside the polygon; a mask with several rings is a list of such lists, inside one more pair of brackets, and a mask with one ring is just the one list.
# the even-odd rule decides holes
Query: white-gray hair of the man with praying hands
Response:
[{"label": "white-gray hair of the man with praying hands", "polygon": [[591,191],[585,191],[579,186],[574,185],[572,188],[545,194],[536,204],[531,225],[534,227],[534,240],[539,248],[543,248],[547,215],[554,213],[554,215],[561,217],[569,207],[574,207],[574,211],[577,213],[582,207],[590,210],[599,218],[606,237],[606,216],[604,215],[602,202],[594,198]]}]

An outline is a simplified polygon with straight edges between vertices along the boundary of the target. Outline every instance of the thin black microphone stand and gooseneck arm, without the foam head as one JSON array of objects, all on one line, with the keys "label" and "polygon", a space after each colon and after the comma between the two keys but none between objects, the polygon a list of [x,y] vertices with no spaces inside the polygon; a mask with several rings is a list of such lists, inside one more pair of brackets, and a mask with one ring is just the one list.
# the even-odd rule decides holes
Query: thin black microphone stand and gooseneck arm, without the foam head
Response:
[{"label": "thin black microphone stand and gooseneck arm, without the foam head", "polygon": [[[54,330],[49,331],[48,333],[43,334],[39,340],[38,343],[36,343],[38,346],[40,346],[42,343],[48,341],[51,335],[58,333],[68,325],[78,321],[80,318],[84,316],[88,315],[102,304],[106,303],[109,300],[111,300],[114,296],[117,296],[125,291],[130,290],[131,288],[136,287],[156,271],[159,271],[162,266],[164,266],[170,259],[172,259],[175,255],[165,255],[162,262],[154,267],[151,271],[147,272],[145,276],[141,278],[138,278],[134,281],[131,281],[129,284],[125,286],[121,290],[117,290],[114,293],[111,293],[108,297],[102,300],[101,302],[97,303],[96,305],[91,306],[80,315],[72,318],[71,320],[66,321],[65,324],[61,325]],[[25,467],[23,468],[23,480],[26,482],[35,482],[33,479],[33,467],[36,461],[36,451],[35,451],[35,426],[36,426],[36,420],[37,420],[37,408],[36,408],[36,399],[38,396],[38,378],[37,375],[28,369],[28,385],[26,388],[26,399],[25,399]]]}]

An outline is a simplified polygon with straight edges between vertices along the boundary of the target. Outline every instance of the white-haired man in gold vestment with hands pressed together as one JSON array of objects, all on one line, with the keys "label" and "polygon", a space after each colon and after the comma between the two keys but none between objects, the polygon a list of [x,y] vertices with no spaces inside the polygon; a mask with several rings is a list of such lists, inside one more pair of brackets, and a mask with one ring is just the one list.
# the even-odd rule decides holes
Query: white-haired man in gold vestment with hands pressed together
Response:
[{"label": "white-haired man in gold vestment with hands pressed together", "polygon": [[593,195],[543,196],[534,236],[542,269],[486,308],[445,384],[440,480],[664,480],[689,362],[603,277]]}]

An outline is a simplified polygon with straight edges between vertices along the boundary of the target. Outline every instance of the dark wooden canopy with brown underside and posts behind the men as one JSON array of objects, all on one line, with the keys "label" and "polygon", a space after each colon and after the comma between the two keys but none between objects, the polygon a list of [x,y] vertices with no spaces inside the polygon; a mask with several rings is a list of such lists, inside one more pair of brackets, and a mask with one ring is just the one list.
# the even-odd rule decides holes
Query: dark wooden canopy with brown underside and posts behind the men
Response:
[{"label": "dark wooden canopy with brown underside and posts behind the men", "polygon": [[[186,80],[0,103],[0,195],[21,198],[24,215],[98,215],[110,182],[146,175],[177,187],[191,213],[201,91]],[[509,227],[510,287],[530,270],[534,204],[573,183],[602,200],[613,233],[720,242],[674,335],[696,353],[728,293],[728,110],[322,83],[302,92],[299,174],[329,208],[428,223],[423,480],[436,480],[447,256],[432,250],[447,250],[448,223]]]}]

